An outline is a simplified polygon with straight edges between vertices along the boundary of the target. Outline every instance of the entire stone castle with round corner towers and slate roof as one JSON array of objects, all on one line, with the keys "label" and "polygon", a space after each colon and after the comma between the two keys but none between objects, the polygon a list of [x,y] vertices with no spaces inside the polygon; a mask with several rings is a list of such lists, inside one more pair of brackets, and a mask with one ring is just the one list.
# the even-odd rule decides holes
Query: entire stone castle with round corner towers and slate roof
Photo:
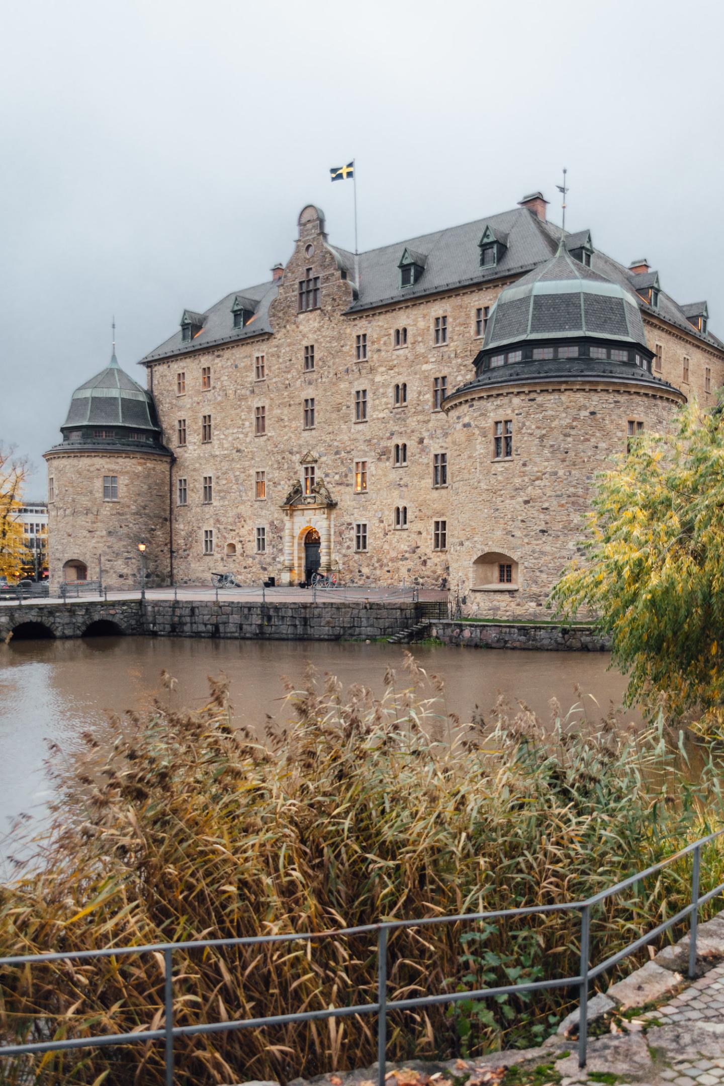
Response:
[{"label": "entire stone castle with round corner towers and slate roof", "polygon": [[46,454],[51,582],[447,586],[544,617],[597,470],[696,395],[724,343],[645,260],[513,211],[358,255],[308,205],[267,282],[73,393]]}]

